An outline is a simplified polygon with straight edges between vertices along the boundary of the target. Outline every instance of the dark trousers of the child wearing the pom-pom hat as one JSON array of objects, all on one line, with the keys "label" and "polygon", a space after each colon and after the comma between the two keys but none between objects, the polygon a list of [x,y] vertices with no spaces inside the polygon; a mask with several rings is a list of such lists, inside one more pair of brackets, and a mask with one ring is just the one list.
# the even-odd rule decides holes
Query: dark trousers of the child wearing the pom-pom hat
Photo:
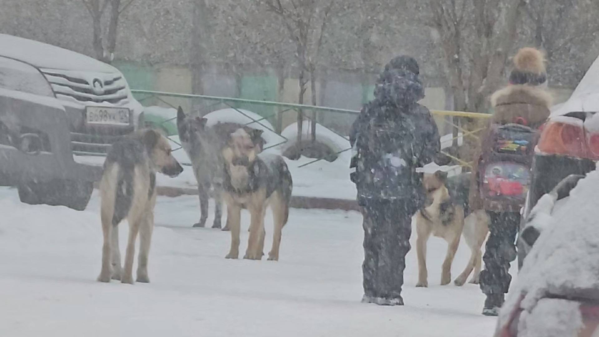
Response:
[{"label": "dark trousers of the child wearing the pom-pom hat", "polygon": [[510,262],[516,259],[516,234],[520,214],[489,212],[489,239],[486,242],[485,269],[480,272],[480,290],[486,295],[505,294],[510,288]]}]

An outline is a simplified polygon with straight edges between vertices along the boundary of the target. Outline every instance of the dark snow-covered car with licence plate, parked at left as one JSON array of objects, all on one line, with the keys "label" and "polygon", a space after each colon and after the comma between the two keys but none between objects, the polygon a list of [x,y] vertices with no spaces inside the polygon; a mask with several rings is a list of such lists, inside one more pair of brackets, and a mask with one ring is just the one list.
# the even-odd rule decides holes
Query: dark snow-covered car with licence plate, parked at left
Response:
[{"label": "dark snow-covered car with licence plate, parked at left", "polygon": [[84,209],[101,174],[86,158],[105,155],[142,112],[111,65],[0,34],[0,184],[23,202]]}]

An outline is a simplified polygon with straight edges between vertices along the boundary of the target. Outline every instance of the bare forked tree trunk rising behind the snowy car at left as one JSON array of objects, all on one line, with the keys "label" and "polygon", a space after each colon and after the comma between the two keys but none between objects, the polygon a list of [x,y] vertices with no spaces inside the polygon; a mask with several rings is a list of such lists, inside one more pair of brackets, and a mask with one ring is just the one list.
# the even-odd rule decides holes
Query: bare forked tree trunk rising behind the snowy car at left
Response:
[{"label": "bare forked tree trunk rising behind the snowy car at left", "polygon": [[[116,49],[117,28],[119,26],[119,17],[135,0],[81,0],[93,23],[93,51],[96,59],[110,63],[114,57]],[[110,5],[108,27],[104,27],[105,20],[103,14]],[[107,30],[107,32],[105,32]],[[104,39],[106,40],[104,42]]]}]

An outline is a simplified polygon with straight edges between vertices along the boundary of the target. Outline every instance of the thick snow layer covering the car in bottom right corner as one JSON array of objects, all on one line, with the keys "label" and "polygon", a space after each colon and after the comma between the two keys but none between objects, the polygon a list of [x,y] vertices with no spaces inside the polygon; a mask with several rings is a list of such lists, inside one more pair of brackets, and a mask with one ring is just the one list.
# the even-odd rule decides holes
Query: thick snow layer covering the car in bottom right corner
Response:
[{"label": "thick snow layer covering the car in bottom right corner", "polygon": [[534,308],[548,294],[599,300],[599,171],[579,180],[565,203],[550,216],[524,261],[501,311],[501,321],[525,294],[522,308]]}]

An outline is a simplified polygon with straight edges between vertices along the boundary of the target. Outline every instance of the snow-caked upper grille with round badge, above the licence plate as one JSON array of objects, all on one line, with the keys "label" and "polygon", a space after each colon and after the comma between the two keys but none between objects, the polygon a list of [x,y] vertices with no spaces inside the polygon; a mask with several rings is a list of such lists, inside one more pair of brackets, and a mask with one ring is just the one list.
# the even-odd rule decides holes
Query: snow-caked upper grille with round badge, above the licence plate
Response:
[{"label": "snow-caked upper grille with round badge, above the licence plate", "polygon": [[80,104],[129,102],[128,89],[121,74],[41,69],[56,98]]}]

